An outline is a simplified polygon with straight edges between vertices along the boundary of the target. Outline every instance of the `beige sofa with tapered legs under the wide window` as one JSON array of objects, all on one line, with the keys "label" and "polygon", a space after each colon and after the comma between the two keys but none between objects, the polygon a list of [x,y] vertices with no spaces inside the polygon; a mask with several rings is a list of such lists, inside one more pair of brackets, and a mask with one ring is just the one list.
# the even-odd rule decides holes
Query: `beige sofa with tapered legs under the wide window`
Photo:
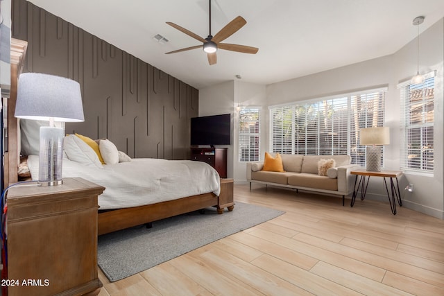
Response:
[{"label": "beige sofa with tapered legs under the wide window", "polygon": [[[355,177],[350,175],[357,164],[350,164],[350,155],[281,155],[284,172],[262,171],[264,162],[247,163],[247,181],[266,185],[284,186],[292,189],[317,191],[342,195],[353,192]],[[336,166],[327,169],[327,175],[318,175],[318,161],[334,159]]]}]

